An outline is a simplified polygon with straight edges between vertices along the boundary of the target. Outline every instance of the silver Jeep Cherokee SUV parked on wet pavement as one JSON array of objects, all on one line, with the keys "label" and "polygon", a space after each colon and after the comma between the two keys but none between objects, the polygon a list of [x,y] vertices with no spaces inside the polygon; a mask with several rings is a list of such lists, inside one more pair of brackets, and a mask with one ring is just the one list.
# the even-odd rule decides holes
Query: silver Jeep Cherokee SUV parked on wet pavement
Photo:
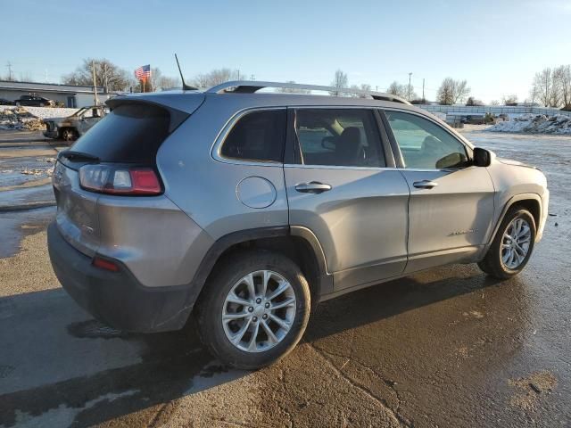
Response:
[{"label": "silver Jeep Cherokee SUV parked on wet pavement", "polygon": [[449,263],[508,278],[542,237],[542,172],[393,95],[237,81],[107,103],[54,169],[54,271],[126,331],[192,312],[231,366],[283,357],[319,301]]}]

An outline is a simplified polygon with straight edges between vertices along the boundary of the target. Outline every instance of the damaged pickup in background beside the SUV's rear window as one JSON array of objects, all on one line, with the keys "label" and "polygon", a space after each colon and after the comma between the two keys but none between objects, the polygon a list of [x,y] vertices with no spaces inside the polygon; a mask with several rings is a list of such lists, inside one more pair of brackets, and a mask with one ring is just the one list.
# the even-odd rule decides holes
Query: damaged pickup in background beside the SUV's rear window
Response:
[{"label": "damaged pickup in background beside the SUV's rear window", "polygon": [[77,140],[83,136],[87,130],[95,123],[103,119],[109,112],[109,107],[105,105],[94,105],[84,107],[76,111],[71,116],[65,118],[46,118],[42,121],[46,124],[44,136],[48,138],[61,138],[65,141]]}]

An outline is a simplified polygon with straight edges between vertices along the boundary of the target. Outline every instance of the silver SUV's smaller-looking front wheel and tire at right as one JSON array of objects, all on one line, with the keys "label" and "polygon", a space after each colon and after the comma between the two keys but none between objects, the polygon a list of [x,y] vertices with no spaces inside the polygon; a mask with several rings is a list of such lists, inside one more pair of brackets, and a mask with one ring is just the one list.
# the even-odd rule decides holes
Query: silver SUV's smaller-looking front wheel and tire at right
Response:
[{"label": "silver SUV's smaller-looking front wheel and tire at right", "polygon": [[498,279],[517,275],[534,251],[535,233],[534,216],[528,210],[510,209],[478,267]]}]

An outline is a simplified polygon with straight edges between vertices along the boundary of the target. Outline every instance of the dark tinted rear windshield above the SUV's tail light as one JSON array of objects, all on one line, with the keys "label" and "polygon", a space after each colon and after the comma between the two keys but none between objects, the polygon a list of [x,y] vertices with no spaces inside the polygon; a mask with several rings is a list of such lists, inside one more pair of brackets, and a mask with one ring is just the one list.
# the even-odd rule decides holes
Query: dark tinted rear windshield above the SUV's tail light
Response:
[{"label": "dark tinted rear windshield above the SUV's tail light", "polygon": [[73,144],[71,150],[93,154],[102,162],[154,165],[169,136],[170,113],[147,103],[120,104]]}]

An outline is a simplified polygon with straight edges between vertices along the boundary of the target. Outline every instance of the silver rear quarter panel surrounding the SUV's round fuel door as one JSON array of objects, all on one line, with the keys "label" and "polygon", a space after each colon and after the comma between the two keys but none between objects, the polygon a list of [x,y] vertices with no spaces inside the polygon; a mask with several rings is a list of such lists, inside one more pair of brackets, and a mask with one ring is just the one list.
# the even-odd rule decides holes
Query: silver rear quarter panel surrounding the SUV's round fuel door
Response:
[{"label": "silver rear quarter panel surrounding the SUV's round fuel door", "polygon": [[[241,95],[213,95],[174,132],[157,154],[165,194],[213,240],[238,230],[287,226],[284,169],[281,164],[216,161],[211,149],[220,131],[237,111]],[[236,99],[236,102],[233,102]],[[269,207],[250,208],[240,202],[237,185],[246,177],[263,177],[276,190]]]}]

